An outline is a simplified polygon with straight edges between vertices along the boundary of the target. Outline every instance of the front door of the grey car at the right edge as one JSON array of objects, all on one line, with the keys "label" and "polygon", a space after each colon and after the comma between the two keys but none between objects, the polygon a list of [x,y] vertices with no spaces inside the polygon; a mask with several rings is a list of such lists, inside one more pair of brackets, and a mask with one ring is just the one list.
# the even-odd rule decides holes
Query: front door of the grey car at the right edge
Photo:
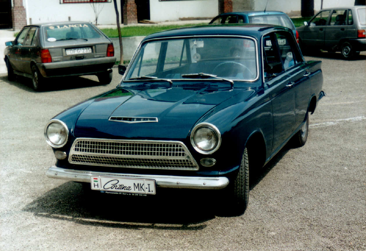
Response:
[{"label": "front door of the grey car at the right edge", "polygon": [[330,10],[319,12],[302,31],[303,45],[321,49],[324,45],[324,29],[329,19]]}]

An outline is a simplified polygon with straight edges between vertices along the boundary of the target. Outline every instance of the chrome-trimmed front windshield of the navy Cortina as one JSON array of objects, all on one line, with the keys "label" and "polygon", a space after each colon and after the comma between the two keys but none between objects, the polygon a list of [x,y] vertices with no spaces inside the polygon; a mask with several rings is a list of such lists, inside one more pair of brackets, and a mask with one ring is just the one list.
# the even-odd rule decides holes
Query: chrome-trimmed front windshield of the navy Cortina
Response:
[{"label": "chrome-trimmed front windshield of the navy Cortina", "polygon": [[257,77],[256,51],[254,39],[243,37],[147,41],[130,63],[124,80],[146,77],[169,80],[217,79],[207,74],[234,80],[254,80]]}]

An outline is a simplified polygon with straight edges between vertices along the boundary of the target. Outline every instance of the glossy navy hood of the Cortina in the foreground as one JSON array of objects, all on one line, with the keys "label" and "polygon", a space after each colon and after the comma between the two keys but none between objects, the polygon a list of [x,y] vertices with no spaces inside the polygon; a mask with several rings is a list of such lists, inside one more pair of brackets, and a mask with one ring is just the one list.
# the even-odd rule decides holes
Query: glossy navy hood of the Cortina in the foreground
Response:
[{"label": "glossy navy hood of the Cortina in the foreground", "polygon": [[[182,140],[204,114],[239,93],[249,96],[253,90],[217,86],[116,88],[94,98],[82,111],[74,136]],[[111,121],[111,117],[123,117],[130,123]],[[146,122],[151,118],[157,122]]]}]

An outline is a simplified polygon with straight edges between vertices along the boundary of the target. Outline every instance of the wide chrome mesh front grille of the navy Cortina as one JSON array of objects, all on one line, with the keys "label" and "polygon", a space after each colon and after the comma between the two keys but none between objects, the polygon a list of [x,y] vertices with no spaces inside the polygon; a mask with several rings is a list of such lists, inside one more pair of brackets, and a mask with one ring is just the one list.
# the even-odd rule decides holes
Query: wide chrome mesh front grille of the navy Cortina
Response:
[{"label": "wide chrome mesh front grille of the navy Cortina", "polygon": [[77,138],[68,160],[71,164],[92,166],[198,170],[196,161],[180,141]]}]

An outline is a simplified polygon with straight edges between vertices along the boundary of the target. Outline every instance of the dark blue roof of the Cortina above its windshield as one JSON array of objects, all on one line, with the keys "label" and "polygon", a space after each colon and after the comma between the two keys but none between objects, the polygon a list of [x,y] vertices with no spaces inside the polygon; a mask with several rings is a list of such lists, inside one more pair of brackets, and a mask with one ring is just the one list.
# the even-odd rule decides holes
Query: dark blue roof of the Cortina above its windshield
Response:
[{"label": "dark blue roof of the Cortina above its windshield", "polygon": [[184,37],[184,36],[202,36],[202,35],[251,36],[259,40],[263,34],[276,30],[277,31],[285,30],[292,33],[292,31],[289,28],[270,24],[250,24],[250,23],[206,24],[200,26],[189,26],[167,31],[161,31],[158,33],[148,35],[143,39],[143,41],[147,39],[157,39],[164,37]]}]

